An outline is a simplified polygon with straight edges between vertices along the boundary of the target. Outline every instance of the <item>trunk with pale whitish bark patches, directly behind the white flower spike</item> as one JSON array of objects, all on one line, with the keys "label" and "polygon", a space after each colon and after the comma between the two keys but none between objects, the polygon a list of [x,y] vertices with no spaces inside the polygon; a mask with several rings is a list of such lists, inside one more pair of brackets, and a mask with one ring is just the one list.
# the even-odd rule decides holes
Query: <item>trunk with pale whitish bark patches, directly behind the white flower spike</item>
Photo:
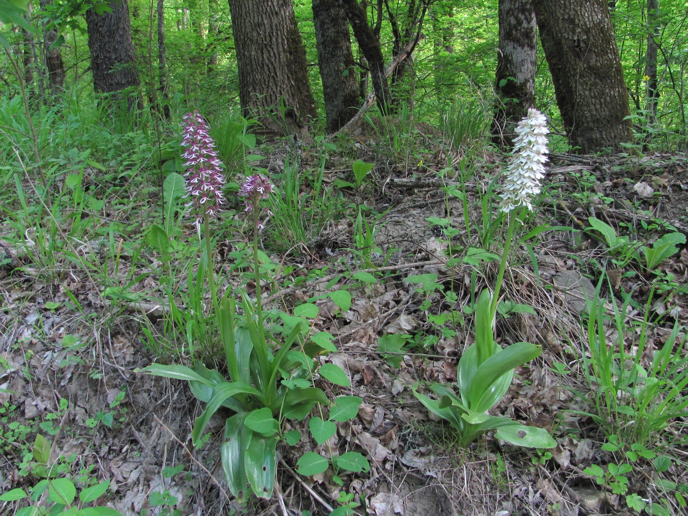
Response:
[{"label": "trunk with pale whitish bark patches, directly behind the white flower spike", "polygon": [[515,125],[535,107],[537,24],[530,0],[499,0],[499,50],[492,141],[510,146]]}]

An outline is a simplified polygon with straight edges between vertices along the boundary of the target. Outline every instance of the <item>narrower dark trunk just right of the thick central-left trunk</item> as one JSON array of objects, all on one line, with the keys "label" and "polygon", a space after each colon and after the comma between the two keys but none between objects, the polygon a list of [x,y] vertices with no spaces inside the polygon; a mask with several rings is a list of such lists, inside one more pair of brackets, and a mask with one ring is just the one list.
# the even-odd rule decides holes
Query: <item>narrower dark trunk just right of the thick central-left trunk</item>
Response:
[{"label": "narrower dark trunk just right of the thick central-left trunk", "polygon": [[327,132],[336,133],[356,114],[362,100],[358,95],[349,23],[337,0],[313,0],[313,23]]}]

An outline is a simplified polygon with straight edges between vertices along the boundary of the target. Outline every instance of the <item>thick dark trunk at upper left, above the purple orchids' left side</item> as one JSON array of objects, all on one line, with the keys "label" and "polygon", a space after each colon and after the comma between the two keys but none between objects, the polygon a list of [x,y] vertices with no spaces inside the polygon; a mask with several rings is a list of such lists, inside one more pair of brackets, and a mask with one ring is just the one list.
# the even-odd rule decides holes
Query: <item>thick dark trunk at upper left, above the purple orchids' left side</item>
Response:
[{"label": "thick dark trunk at upper left, above the purple orchids' left side", "polygon": [[[131,43],[127,0],[109,3],[112,12],[86,11],[91,72],[96,94],[107,96],[114,106],[126,100],[127,108],[141,107],[136,56]],[[127,90],[127,91],[125,91]]]}]

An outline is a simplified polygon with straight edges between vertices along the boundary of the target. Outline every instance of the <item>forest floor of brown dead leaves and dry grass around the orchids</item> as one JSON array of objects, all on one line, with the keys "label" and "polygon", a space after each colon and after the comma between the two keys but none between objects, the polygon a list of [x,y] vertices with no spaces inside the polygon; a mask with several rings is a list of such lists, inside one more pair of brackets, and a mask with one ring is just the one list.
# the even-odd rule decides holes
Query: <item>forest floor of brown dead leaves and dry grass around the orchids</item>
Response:
[{"label": "forest floor of brown dead leaves and dry grass around the orchids", "polygon": [[[374,222],[378,249],[369,254],[351,251],[361,251],[355,241],[354,213],[323,225],[298,255],[270,253],[277,264],[297,266],[292,279],[316,269],[330,275],[359,268],[377,275],[376,283],[350,285],[353,300],[345,313],[338,313],[326,299],[318,301],[321,310],[314,323],[317,330],[335,337],[338,349],[324,356],[323,363],[340,365],[352,380],[352,387],[344,389],[321,378],[319,387],[330,398],[363,398],[358,418],[338,425],[335,448],[363,453],[371,464],[368,473],[346,475],[343,488],[327,473],[297,475],[301,454],[320,449],[304,431],[308,420],[292,422],[304,438],[295,447],[279,447],[272,499],[246,507],[233,502],[218,451],[222,420],[215,418],[210,440],[193,449],[191,426],[203,404],[180,380],[135,372],[156,359],[142,327],[162,332],[164,303],[156,304],[162,297],[162,272],[155,253],[144,249],[134,256],[123,248],[118,270],[110,270],[112,277],[142,279],[126,295],[108,296],[103,282],[85,272],[69,253],[58,255],[52,270],[31,261],[26,246],[32,234],[17,235],[16,226],[8,223],[0,228],[0,250],[5,253],[0,269],[0,388],[7,389],[0,391],[0,492],[33,485],[27,469],[32,442],[41,433],[52,442],[53,460],[74,479],[109,480],[111,493],[105,502],[125,515],[144,510],[149,515],[173,514],[171,510],[180,515],[327,515],[327,505],[338,506],[335,500],[342,490],[354,494],[361,504],[354,511],[360,515],[634,513],[609,484],[598,484],[583,473],[591,464],[618,462],[619,456],[601,448],[605,436],[592,418],[571,412],[590,411],[590,406],[570,389],[590,390],[581,373],[581,356],[588,353],[581,320],[585,299],[594,297],[603,272],[608,280],[601,288],[607,297],[613,292],[619,306],[627,295],[633,301],[622,318],[636,328],[630,331],[629,346],[634,345],[633,336],[638,337],[653,286],[647,353],[661,347],[675,321],[685,334],[688,248],[679,246],[680,252],[656,270],[643,270],[629,257],[632,250],[669,233],[669,225],[688,235],[687,156],[551,156],[544,194],[531,221],[532,227],[551,228],[524,242],[529,246],[514,247],[504,283],[504,299],[533,310],[497,316],[496,327],[497,341],[503,345],[528,341],[542,345],[543,352],[517,369],[508,394],[491,411],[548,429],[558,445],[545,452],[513,447],[491,433],[460,449],[451,427],[431,418],[411,392],[415,383],[455,383],[458,358],[473,341],[472,317],[464,307],[475,300],[476,285],[480,291],[491,284],[496,265],[480,258],[448,263],[447,248],[451,245],[452,252],[463,257],[469,248],[482,248],[477,241],[484,231],[482,200],[505,159],[475,155],[471,178],[459,182],[449,177],[451,173],[440,178],[439,172],[455,169],[465,156],[433,149],[431,139],[427,147],[431,150],[395,158],[380,152],[372,140],[360,138],[346,158],[325,162],[324,182],[333,188],[346,169],[350,174],[352,160],[375,164],[361,188],[341,191],[353,204],[382,214]],[[275,148],[259,164],[281,173],[286,154]],[[293,165],[293,155],[291,160]],[[317,169],[319,155],[303,151],[298,166],[303,171]],[[95,182],[98,171],[91,173],[89,180]],[[275,182],[279,186],[279,180]],[[460,196],[447,195],[447,187],[454,185],[465,194],[465,204]],[[155,195],[153,191],[149,199],[131,197],[127,209],[106,207],[96,226],[112,221],[136,228],[150,224],[147,221],[159,209]],[[239,215],[228,216],[241,216],[238,202],[234,208]],[[436,218],[429,222],[429,217]],[[589,217],[628,239],[615,247],[609,235],[590,230]],[[451,239],[444,237],[440,219],[451,219],[456,230]],[[195,238],[193,226],[185,226],[184,235]],[[266,235],[261,233],[261,238]],[[231,249],[245,238],[229,232],[219,237],[218,248],[225,241]],[[99,246],[95,237],[75,244],[76,252],[100,256],[106,264],[107,252]],[[491,250],[499,253],[499,244]],[[132,267],[135,272],[127,270]],[[222,264],[217,272],[222,273]],[[186,281],[186,270],[180,269],[179,275],[180,282]],[[436,281],[423,289],[407,281],[414,275],[436,275]],[[225,276],[224,281],[230,285],[237,279]],[[319,281],[282,286],[281,295],[268,301],[280,299],[286,308],[324,288]],[[447,297],[449,291],[453,295]],[[438,322],[440,314],[453,314],[455,324],[446,318]],[[443,331],[447,328],[453,332]],[[385,334],[418,338],[408,341],[407,352],[390,363],[376,352],[378,338]],[[685,353],[685,347],[676,352]],[[186,359],[180,354],[162,360]],[[626,475],[627,493],[646,500],[665,497],[676,514],[685,508],[672,493],[688,488],[686,422],[685,415],[672,420],[656,439],[658,450],[671,442],[673,462],[667,471],[657,473],[651,461],[641,458]],[[658,478],[675,482],[674,489]],[[15,507],[2,504],[0,513],[11,513]]]}]

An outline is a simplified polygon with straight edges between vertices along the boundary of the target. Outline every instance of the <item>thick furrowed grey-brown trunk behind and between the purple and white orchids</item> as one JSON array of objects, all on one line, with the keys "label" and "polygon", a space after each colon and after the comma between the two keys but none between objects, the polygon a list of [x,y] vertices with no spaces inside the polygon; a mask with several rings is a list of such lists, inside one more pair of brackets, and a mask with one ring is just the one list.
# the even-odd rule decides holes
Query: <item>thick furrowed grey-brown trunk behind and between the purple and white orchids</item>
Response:
[{"label": "thick furrowed grey-brown trunk behind and between the purple and white orchids", "polygon": [[308,126],[315,101],[291,0],[229,0],[229,10],[244,115],[270,136]]}]

